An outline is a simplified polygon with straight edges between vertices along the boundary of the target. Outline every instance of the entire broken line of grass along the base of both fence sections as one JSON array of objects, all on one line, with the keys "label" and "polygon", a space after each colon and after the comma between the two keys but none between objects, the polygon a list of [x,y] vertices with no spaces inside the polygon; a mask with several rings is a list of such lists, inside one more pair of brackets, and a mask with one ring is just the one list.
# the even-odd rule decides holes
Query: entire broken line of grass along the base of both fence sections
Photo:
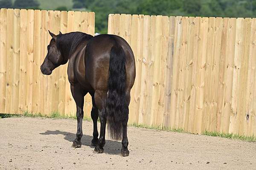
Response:
[{"label": "entire broken line of grass along the base of both fence sections", "polygon": [[[23,115],[12,115],[12,114],[0,114],[0,118],[10,118],[10,117],[46,117],[46,118],[55,118],[55,119],[76,119],[76,116],[73,115],[61,115],[59,112],[52,112],[51,114],[41,114],[41,113],[35,113],[32,114],[31,112],[25,111],[23,112]],[[91,118],[84,117],[84,120],[92,121]],[[99,119],[98,119],[99,122]],[[188,133],[184,131],[182,128],[170,128],[170,127],[163,127],[163,129],[160,126],[148,126],[145,124],[128,124],[130,127],[140,127],[140,128],[146,128],[146,129],[153,129],[153,130],[164,130],[169,132],[177,132],[177,133]],[[207,135],[207,136],[218,136],[221,138],[228,138],[228,139],[235,139],[235,140],[241,140],[241,141],[247,141],[247,142],[256,142],[255,136],[244,136],[244,135],[237,135],[233,133],[219,133],[219,132],[209,132],[204,131],[201,135]]]}]

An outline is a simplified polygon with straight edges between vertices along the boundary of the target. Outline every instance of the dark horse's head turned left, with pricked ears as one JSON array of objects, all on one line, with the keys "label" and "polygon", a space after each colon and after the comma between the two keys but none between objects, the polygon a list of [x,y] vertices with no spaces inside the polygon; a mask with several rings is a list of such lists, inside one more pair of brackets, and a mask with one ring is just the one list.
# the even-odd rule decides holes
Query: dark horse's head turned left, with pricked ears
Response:
[{"label": "dark horse's head turned left, with pricked ears", "polygon": [[[61,64],[67,63],[65,62],[65,58],[61,55],[60,49],[57,47],[57,38],[58,35],[54,35],[49,31],[49,34],[52,36],[52,39],[47,46],[47,55],[44,58],[44,62],[41,65],[41,72],[44,75],[52,74],[52,70],[60,66]],[[61,32],[60,34],[61,35]]]}]

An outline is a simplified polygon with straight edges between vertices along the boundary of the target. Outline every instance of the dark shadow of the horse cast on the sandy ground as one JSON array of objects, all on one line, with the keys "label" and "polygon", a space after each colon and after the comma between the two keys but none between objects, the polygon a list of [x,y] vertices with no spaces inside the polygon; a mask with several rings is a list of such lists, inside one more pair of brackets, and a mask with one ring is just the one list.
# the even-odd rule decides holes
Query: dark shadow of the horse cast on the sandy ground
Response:
[{"label": "dark shadow of the horse cast on the sandy ground", "polygon": [[[73,140],[76,138],[75,133],[70,133],[70,132],[63,132],[59,130],[51,131],[47,130],[44,133],[40,133],[41,135],[64,135],[64,139],[70,142],[73,142]],[[83,135],[81,138],[82,145],[88,146],[91,148],[94,148],[91,146],[91,141],[93,137],[89,135]],[[71,147],[71,144],[70,144]],[[118,155],[120,154],[120,149],[122,148],[122,143],[119,141],[111,141],[111,140],[106,140],[106,144],[104,146],[104,153],[111,154],[111,155]]]}]

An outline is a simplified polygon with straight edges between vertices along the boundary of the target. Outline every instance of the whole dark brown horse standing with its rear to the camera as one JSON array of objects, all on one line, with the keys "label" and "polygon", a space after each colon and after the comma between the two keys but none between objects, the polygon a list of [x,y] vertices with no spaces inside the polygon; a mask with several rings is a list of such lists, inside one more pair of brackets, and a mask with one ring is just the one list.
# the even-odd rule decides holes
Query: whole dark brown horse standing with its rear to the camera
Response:
[{"label": "whole dark brown horse standing with its rear to the camera", "polygon": [[[49,30],[48,30],[49,31]],[[105,130],[113,140],[122,139],[121,155],[128,156],[127,122],[131,88],[134,85],[135,59],[129,44],[117,35],[93,37],[83,32],[58,35],[49,31],[52,39],[41,65],[44,75],[68,61],[67,75],[76,102],[77,133],[72,147],[81,147],[84,96],[92,98],[94,152],[103,153]],[[97,120],[100,120],[100,134]],[[99,139],[98,139],[99,136]]]}]

